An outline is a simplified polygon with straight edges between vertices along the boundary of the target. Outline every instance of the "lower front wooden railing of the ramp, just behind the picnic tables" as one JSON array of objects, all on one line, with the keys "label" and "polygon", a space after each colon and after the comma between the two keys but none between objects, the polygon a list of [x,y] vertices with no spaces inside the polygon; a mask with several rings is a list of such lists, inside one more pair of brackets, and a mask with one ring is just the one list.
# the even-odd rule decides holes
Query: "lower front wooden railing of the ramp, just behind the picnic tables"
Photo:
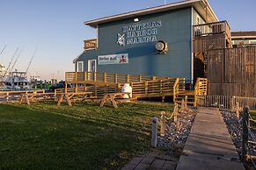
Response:
[{"label": "lower front wooden railing of the ramp, just behind the picnic tables", "polygon": [[[154,81],[134,81],[129,82],[133,89],[134,97],[157,97],[157,96],[173,96],[175,90],[185,90],[184,78],[167,78],[158,79]],[[55,93],[79,93],[92,92],[93,96],[100,96],[106,93],[120,93],[121,87],[126,82],[119,82],[116,84],[94,84],[84,87],[56,89]]]}]

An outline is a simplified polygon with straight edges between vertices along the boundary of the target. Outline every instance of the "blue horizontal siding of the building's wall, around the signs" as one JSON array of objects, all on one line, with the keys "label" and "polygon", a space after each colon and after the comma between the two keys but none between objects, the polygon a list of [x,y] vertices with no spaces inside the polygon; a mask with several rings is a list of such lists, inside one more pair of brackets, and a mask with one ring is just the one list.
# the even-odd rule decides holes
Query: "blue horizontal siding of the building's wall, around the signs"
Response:
[{"label": "blue horizontal siding of the building's wall, around the signs", "polygon": [[97,60],[98,55],[128,53],[128,64],[98,65],[97,71],[186,77],[191,80],[191,16],[191,8],[186,8],[139,17],[142,24],[162,21],[157,40],[168,43],[166,54],[156,53],[156,42],[119,46],[116,42],[122,26],[135,24],[134,18],[129,18],[99,25],[99,48],[86,51],[77,61],[84,60],[84,70],[87,70],[87,60]]}]

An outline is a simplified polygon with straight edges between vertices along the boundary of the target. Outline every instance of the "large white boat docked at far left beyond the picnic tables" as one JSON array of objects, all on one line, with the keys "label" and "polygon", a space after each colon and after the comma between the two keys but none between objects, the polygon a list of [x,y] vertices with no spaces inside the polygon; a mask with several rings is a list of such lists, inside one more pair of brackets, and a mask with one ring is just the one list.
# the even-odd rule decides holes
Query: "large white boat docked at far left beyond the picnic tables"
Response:
[{"label": "large white boat docked at far left beyond the picnic tables", "polygon": [[5,89],[11,90],[26,90],[29,87],[29,81],[26,78],[26,72],[14,71],[6,77],[4,81]]}]

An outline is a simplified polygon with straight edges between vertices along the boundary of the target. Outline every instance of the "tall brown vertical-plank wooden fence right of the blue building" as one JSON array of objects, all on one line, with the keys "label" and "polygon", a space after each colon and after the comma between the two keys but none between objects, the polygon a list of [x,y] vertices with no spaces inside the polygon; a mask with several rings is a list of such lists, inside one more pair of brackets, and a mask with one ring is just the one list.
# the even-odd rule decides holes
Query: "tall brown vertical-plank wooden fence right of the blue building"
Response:
[{"label": "tall brown vertical-plank wooden fence right of the blue building", "polygon": [[208,51],[210,96],[256,97],[256,47]]}]

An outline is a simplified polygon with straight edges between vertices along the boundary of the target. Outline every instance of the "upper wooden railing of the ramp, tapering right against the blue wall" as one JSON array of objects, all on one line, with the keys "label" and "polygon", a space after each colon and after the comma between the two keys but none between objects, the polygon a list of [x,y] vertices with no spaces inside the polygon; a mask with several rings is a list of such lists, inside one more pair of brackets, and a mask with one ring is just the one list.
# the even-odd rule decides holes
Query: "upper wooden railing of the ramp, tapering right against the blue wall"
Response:
[{"label": "upper wooden railing of the ramp, tapering right against the blue wall", "polygon": [[109,74],[99,72],[66,72],[65,75],[65,80],[67,83],[102,82],[107,84],[115,84],[124,82],[154,81],[167,78],[169,77],[133,74]]}]

